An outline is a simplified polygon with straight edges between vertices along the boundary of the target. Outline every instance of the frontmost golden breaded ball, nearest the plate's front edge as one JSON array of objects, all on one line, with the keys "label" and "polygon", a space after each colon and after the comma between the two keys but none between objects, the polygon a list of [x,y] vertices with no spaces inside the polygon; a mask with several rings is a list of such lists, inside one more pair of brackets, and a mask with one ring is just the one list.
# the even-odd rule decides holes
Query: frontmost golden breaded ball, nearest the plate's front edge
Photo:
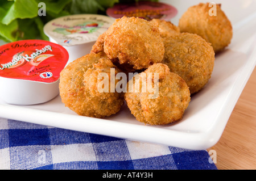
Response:
[{"label": "frontmost golden breaded ball, nearest the plate's front edge", "polygon": [[[190,93],[179,75],[171,73],[167,65],[159,63],[151,65],[135,77],[137,79],[131,79],[127,85],[125,100],[138,121],[150,125],[166,125],[183,117],[190,102]],[[148,84],[152,89],[145,90],[144,86]]]}]

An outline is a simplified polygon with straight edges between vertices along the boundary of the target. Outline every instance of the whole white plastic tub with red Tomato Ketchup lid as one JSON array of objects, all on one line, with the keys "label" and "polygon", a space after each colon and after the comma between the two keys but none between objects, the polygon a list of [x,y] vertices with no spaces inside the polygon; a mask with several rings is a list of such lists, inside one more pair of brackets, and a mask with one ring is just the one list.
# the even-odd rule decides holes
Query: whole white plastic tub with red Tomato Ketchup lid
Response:
[{"label": "whole white plastic tub with red Tomato Ketchup lid", "polygon": [[31,105],[59,95],[60,71],[68,52],[44,40],[21,40],[0,47],[0,98],[9,104]]}]

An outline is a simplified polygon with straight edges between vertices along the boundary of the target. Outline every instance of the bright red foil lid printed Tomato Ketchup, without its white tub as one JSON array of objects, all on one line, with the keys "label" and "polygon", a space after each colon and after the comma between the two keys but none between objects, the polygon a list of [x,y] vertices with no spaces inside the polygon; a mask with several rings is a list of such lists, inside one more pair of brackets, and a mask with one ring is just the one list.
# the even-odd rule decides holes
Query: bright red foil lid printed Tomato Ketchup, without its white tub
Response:
[{"label": "bright red foil lid printed Tomato Ketchup, without its white tub", "polygon": [[0,47],[0,76],[51,83],[68,62],[61,45],[44,40],[20,40]]}]

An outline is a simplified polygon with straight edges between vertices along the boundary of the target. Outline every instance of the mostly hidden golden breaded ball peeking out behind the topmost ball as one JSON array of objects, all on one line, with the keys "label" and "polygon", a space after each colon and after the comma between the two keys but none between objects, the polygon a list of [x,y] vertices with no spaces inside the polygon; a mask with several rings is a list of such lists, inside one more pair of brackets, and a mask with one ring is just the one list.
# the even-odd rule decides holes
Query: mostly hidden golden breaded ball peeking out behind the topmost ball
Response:
[{"label": "mostly hidden golden breaded ball peeking out behind the topmost ball", "polygon": [[177,33],[180,33],[180,28],[172,24],[171,22],[168,22],[163,19],[152,19],[150,23],[154,24],[156,27],[158,27],[160,31],[160,35],[165,37],[170,37],[172,35],[175,35]]}]

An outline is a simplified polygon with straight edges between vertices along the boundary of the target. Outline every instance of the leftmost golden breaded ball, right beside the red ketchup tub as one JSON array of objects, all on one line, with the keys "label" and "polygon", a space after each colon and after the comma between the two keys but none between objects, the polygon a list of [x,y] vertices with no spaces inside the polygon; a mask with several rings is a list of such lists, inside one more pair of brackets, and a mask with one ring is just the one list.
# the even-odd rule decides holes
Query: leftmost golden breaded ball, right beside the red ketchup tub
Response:
[{"label": "leftmost golden breaded ball, right beside the red ketchup tub", "polygon": [[119,72],[103,52],[87,54],[68,64],[60,73],[59,85],[65,106],[82,116],[102,118],[117,113],[124,99],[122,93],[110,90],[111,68],[114,75]]}]

